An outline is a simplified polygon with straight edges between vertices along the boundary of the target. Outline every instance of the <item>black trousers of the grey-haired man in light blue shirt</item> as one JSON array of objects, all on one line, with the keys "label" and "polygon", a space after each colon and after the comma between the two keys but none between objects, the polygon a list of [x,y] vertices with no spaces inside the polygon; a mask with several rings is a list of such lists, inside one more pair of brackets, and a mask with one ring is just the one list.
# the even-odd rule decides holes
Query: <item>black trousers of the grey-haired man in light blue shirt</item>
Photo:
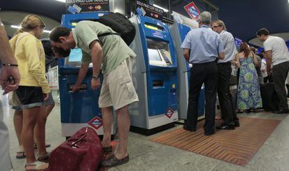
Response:
[{"label": "black trousers of the grey-haired man in light blue shirt", "polygon": [[205,64],[193,64],[190,77],[190,90],[188,95],[188,113],[185,126],[192,130],[197,128],[198,99],[202,83],[205,83],[205,134],[215,132],[216,115],[216,89],[218,80],[218,68],[216,62]]}]

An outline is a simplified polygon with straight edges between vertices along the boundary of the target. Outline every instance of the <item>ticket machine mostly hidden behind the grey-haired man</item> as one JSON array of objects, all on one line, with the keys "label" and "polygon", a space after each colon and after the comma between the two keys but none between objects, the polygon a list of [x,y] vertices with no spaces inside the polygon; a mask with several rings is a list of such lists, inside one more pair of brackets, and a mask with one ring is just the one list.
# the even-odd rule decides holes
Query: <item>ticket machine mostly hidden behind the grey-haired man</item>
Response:
[{"label": "ticket machine mostly hidden behind the grey-haired man", "polygon": [[[179,82],[179,119],[186,119],[188,110],[188,90],[190,89],[190,76],[192,64],[184,58],[184,51],[181,48],[186,38],[188,31],[191,31],[190,27],[184,24],[175,22],[170,26],[170,32],[175,43],[175,49],[177,52],[177,66],[178,66],[178,82]],[[205,112],[205,87],[202,86],[200,91],[200,97],[198,101],[198,118],[200,119]]]}]

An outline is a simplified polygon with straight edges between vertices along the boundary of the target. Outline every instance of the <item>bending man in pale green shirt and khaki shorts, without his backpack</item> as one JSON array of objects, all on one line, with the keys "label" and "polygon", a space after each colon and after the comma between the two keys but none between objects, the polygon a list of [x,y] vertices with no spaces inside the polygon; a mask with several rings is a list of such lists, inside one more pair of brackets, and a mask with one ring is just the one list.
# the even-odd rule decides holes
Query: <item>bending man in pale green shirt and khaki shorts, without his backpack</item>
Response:
[{"label": "bending man in pale green shirt and khaki shorts, without his backpack", "polygon": [[[103,34],[106,35],[100,36]],[[131,78],[136,54],[115,31],[100,22],[78,22],[72,30],[66,27],[56,27],[50,34],[50,40],[54,47],[63,50],[75,47],[82,49],[82,65],[73,91],[79,89],[91,62],[93,64],[92,89],[98,89],[101,86],[102,71],[104,79],[98,105],[103,115],[103,150],[106,154],[112,152],[110,145],[112,107],[117,112],[119,147],[117,152],[102,161],[101,165],[113,167],[128,162],[127,145],[130,128],[128,105],[138,101]]]}]

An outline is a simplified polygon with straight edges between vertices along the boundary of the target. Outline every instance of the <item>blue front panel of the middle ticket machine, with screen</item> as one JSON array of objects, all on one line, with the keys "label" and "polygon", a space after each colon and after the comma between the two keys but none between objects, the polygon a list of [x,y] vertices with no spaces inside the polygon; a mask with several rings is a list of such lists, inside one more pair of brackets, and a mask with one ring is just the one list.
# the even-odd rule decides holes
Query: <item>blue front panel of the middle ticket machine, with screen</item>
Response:
[{"label": "blue front panel of the middle ticket machine, with screen", "polygon": [[178,109],[177,59],[167,24],[138,16],[147,72],[149,116]]}]

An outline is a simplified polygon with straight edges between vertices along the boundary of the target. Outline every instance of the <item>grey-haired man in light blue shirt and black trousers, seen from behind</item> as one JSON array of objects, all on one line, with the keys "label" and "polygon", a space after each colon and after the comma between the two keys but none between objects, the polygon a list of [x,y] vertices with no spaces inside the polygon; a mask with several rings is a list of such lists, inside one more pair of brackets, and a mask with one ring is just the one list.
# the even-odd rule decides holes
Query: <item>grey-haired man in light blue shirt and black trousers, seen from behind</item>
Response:
[{"label": "grey-haired man in light blue shirt and black trousers, seen from behind", "polygon": [[218,81],[216,59],[224,59],[223,43],[220,35],[210,29],[211,20],[211,13],[202,12],[198,20],[200,28],[189,31],[181,45],[181,48],[184,49],[186,61],[193,64],[188,95],[188,113],[184,129],[196,131],[198,99],[202,84],[205,83],[205,135],[213,135],[215,133]]}]

